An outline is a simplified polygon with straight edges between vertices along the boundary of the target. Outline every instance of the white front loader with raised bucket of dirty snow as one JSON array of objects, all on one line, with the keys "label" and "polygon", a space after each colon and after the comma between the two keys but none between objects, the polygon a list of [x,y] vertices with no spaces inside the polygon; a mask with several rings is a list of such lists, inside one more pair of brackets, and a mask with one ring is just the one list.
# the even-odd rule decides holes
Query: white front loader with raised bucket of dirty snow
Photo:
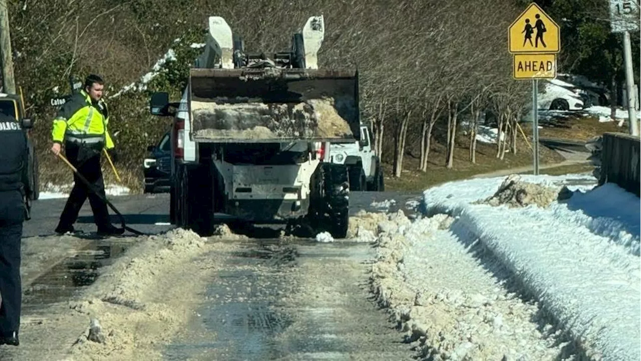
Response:
[{"label": "white front loader with raised bucket of dirty snow", "polygon": [[172,224],[207,235],[223,215],[344,238],[349,174],[330,148],[360,141],[358,71],[319,69],[322,15],[272,57],[247,53],[222,17],[208,24],[181,100],[149,100],[151,114],[173,117]]}]

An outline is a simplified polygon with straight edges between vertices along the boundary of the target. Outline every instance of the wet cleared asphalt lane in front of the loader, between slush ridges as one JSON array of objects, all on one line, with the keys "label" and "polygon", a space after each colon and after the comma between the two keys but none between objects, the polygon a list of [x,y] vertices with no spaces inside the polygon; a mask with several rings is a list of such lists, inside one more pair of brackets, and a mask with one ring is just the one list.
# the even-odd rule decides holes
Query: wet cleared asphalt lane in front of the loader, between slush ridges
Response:
[{"label": "wet cleared asphalt lane in front of the loader, between slush ridges", "polygon": [[367,243],[244,243],[224,255],[163,360],[412,360],[370,301],[372,256]]}]

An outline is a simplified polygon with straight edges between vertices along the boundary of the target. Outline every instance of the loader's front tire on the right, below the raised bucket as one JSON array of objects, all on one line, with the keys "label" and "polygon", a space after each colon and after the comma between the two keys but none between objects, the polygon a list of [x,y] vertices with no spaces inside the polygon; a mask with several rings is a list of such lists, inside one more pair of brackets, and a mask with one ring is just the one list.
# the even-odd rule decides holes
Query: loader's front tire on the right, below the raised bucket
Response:
[{"label": "loader's front tire on the right, below the raised bucket", "polygon": [[321,163],[312,177],[308,219],[316,233],[345,238],[349,226],[349,173],[343,164]]}]

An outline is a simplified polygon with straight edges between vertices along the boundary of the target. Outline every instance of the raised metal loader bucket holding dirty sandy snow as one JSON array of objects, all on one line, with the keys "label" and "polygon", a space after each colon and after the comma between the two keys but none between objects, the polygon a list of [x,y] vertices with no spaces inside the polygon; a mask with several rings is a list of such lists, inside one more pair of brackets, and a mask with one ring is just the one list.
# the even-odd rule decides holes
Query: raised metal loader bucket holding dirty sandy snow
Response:
[{"label": "raised metal loader bucket holding dirty sandy snow", "polygon": [[360,139],[357,71],[191,69],[188,107],[198,142]]}]

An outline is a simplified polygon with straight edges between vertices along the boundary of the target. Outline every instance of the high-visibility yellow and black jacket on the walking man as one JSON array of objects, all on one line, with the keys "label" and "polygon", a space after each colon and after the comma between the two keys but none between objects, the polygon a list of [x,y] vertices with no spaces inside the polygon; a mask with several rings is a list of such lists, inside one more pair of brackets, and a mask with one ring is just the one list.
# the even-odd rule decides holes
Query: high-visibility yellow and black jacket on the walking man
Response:
[{"label": "high-visibility yellow and black jacket on the walking man", "polygon": [[54,143],[71,141],[111,149],[114,145],[107,130],[108,123],[106,103],[103,100],[94,103],[87,92],[80,90],[58,110],[51,136]]}]

